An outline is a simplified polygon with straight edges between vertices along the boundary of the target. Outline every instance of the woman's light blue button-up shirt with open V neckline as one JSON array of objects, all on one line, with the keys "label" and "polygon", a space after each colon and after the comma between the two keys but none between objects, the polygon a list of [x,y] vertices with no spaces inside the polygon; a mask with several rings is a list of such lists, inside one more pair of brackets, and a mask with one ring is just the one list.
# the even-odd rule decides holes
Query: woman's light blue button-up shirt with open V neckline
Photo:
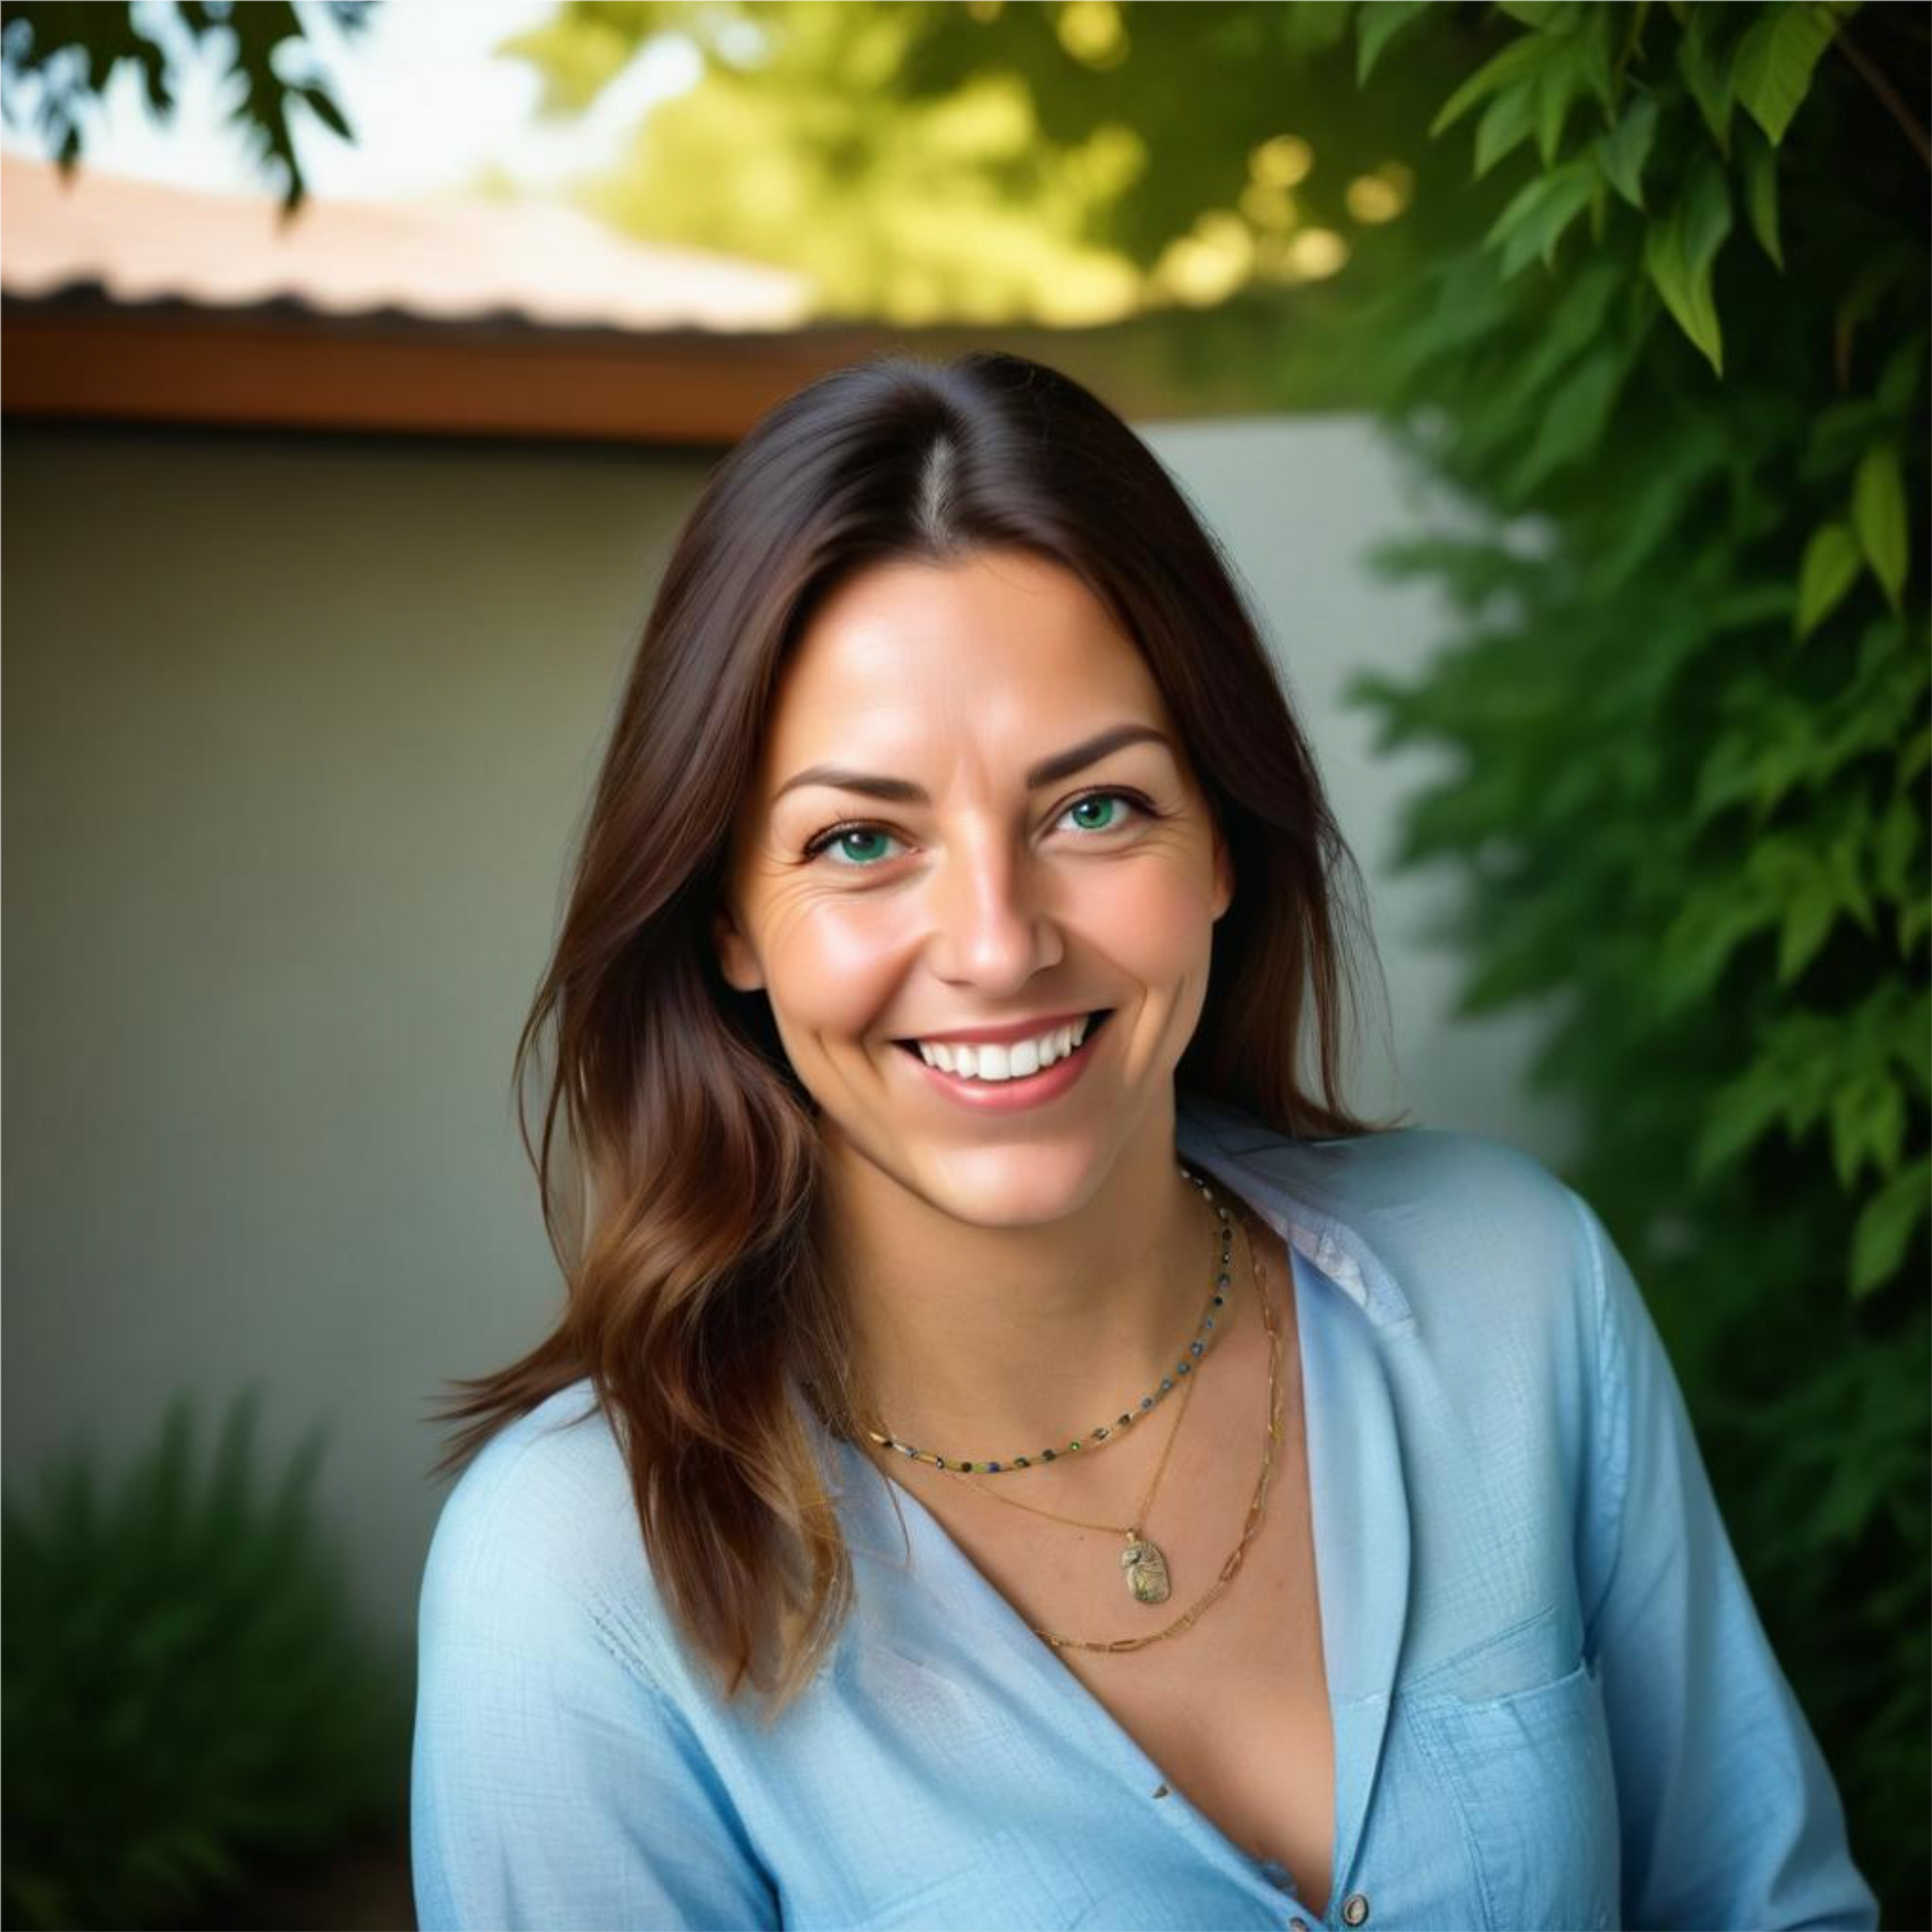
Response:
[{"label": "woman's light blue button-up shirt with open V neckline", "polygon": [[653,1588],[585,1381],[497,1435],[437,1524],[423,1932],[1878,1922],[1582,1198],[1476,1134],[1294,1142],[1186,1094],[1177,1146],[1294,1275],[1327,1913],[1169,1791],[918,1497],[823,1432],[854,1611],[771,1729],[726,1704]]}]

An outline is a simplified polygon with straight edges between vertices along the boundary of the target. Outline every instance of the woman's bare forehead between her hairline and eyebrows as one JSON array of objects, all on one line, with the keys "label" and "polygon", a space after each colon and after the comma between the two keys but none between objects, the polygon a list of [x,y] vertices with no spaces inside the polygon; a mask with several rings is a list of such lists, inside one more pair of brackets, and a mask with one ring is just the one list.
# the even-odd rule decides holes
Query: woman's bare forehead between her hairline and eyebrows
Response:
[{"label": "woman's bare forehead between her hairline and eyebrows", "polygon": [[[1146,659],[1070,570],[1018,551],[875,564],[796,641],[765,721],[781,773],[854,744],[914,753],[970,732],[1016,753],[1055,713],[1165,721]],[[1059,738],[1055,738],[1059,742]]]}]

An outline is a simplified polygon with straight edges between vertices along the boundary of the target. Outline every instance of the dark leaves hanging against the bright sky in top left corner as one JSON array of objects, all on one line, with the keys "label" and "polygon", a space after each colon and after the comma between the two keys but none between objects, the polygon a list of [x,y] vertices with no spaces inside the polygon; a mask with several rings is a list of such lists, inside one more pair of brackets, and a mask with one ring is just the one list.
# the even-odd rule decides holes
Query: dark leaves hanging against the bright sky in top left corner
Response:
[{"label": "dark leaves hanging against the bright sky in top left corner", "polygon": [[[319,0],[342,31],[354,33],[377,0]],[[166,6],[102,6],[100,0],[21,0],[0,21],[0,120],[31,108],[33,126],[62,172],[85,145],[87,118],[116,68],[141,77],[149,112],[174,112],[174,68],[195,43],[220,48],[224,77],[240,81],[230,120],[245,133],[257,166],[284,184],[284,207],[301,205],[301,162],[290,108],[305,106],[325,128],[350,139],[342,106],[307,43],[296,0],[166,0]]]}]

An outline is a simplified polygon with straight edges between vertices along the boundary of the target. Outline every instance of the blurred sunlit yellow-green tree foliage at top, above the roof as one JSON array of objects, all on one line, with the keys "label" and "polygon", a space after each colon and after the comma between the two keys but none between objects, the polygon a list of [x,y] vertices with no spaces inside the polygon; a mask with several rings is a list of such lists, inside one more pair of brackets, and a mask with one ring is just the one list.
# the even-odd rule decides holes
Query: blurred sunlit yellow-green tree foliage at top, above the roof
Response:
[{"label": "blurred sunlit yellow-green tree foliage at top, above the roof", "polygon": [[[1341,255],[1403,249],[1418,224],[1358,218],[1347,189],[1399,151],[1418,79],[1331,116],[1306,180],[1258,153],[1298,124],[1283,73],[1352,91],[1350,4],[560,0],[504,50],[580,112],[651,37],[697,46],[703,79],[583,184],[634,234],[802,270],[829,317],[1094,325],[1320,280],[1337,238]],[[1385,35],[1410,43],[1422,12],[1381,0]],[[1173,85],[1202,68],[1208,141],[1204,97]]]}]

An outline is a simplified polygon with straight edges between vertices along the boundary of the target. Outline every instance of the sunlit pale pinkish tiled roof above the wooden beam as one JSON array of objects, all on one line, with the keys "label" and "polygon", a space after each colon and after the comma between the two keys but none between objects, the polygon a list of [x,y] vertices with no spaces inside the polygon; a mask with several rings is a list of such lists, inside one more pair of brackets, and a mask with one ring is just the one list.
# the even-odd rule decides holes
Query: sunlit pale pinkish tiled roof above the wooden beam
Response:
[{"label": "sunlit pale pinkish tiled roof above the wooden beam", "polygon": [[514,201],[280,201],[0,155],[0,298],[317,315],[516,319],[539,328],[794,328],[781,269],[630,242],[574,209]]}]

